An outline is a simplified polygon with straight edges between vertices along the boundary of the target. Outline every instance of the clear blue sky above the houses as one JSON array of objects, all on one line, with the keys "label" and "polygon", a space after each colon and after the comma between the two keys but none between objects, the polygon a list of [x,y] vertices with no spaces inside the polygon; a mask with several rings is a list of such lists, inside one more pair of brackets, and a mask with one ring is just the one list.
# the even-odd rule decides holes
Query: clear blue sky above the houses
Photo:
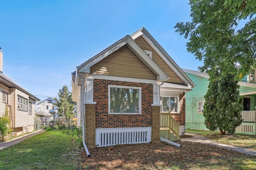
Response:
[{"label": "clear blue sky above the houses", "polygon": [[190,21],[188,0],[0,0],[3,74],[44,100],[71,91],[71,72],[144,27],[180,66],[202,62],[175,32]]}]

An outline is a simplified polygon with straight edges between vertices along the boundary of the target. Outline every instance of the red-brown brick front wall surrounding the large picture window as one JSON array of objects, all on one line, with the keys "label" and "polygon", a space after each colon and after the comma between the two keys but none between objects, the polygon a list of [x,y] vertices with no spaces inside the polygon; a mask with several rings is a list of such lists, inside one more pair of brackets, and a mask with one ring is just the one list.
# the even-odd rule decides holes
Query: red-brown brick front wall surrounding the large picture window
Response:
[{"label": "red-brown brick front wall surrounding the large picture window", "polygon": [[[108,85],[141,87],[142,114],[108,114]],[[96,128],[152,126],[152,84],[94,79],[94,102],[97,102]]]}]

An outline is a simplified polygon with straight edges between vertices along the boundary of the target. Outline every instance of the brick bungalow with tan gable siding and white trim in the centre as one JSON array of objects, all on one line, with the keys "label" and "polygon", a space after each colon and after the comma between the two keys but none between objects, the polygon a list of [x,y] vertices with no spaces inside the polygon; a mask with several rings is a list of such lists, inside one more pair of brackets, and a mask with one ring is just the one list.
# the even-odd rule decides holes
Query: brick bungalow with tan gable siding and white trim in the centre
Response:
[{"label": "brick bungalow with tan gable siding and white trim in the centre", "polygon": [[125,36],[72,73],[85,147],[159,143],[160,112],[170,112],[184,133],[185,93],[192,87],[145,28]]}]

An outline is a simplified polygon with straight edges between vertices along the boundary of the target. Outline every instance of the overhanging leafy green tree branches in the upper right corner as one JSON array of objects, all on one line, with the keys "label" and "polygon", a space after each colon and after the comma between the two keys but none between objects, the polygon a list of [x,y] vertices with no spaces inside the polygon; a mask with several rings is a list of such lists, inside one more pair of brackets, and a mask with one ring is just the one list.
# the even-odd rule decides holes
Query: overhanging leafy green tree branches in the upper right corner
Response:
[{"label": "overhanging leafy green tree branches in the upper right corner", "polygon": [[175,28],[189,38],[188,52],[204,61],[200,70],[214,76],[212,68],[218,67],[240,80],[256,64],[255,0],[190,0],[189,5],[191,21]]}]

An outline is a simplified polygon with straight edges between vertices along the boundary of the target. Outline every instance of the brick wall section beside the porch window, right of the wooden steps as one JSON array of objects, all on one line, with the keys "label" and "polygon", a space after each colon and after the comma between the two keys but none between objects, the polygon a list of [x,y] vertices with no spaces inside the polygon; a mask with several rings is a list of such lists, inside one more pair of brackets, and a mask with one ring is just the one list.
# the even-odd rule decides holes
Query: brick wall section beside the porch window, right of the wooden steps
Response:
[{"label": "brick wall section beside the porch window, right of the wooden steps", "polygon": [[172,117],[180,124],[185,125],[185,114],[186,114],[186,106],[185,106],[185,93],[180,94],[180,112],[179,113],[171,113]]}]

